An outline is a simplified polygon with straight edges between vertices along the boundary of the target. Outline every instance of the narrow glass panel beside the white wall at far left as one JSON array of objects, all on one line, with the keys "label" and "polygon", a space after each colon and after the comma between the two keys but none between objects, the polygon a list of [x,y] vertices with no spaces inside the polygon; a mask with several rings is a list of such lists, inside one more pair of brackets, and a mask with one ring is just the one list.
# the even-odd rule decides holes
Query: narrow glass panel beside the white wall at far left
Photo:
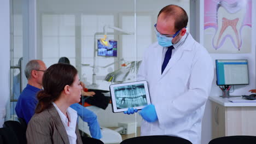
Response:
[{"label": "narrow glass panel beside the white wall at far left", "polygon": [[22,2],[10,1],[10,100],[5,120],[18,121],[15,106],[21,92],[21,63],[23,56]]}]

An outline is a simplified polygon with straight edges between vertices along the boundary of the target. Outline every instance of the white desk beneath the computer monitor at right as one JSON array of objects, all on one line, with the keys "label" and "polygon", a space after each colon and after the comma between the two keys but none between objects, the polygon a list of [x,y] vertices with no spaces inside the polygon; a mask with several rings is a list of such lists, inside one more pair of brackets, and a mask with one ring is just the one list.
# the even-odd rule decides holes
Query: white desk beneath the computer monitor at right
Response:
[{"label": "white desk beneath the computer monitor at right", "polygon": [[231,135],[256,135],[256,103],[232,103],[241,97],[209,98],[212,102],[212,139]]}]

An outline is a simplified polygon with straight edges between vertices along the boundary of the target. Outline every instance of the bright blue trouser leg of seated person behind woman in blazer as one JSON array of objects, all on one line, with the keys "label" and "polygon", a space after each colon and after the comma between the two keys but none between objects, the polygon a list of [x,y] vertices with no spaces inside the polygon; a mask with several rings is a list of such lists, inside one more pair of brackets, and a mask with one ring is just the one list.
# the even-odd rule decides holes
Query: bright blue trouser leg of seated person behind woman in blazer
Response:
[{"label": "bright blue trouser leg of seated person behind woman in blazer", "polygon": [[100,140],[102,137],[101,128],[100,128],[100,124],[98,124],[98,119],[95,113],[86,109],[84,106],[78,103],[73,104],[70,107],[75,111],[77,111],[78,116],[80,116],[84,122],[88,123],[91,136],[94,139]]}]

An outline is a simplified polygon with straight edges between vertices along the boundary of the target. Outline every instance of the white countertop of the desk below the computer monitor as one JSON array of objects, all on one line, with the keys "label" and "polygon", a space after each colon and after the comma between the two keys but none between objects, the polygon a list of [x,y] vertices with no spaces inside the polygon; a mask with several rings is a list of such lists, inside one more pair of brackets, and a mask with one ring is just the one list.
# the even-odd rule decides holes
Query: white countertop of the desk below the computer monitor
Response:
[{"label": "white countertop of the desk below the computer monitor", "polygon": [[[251,100],[245,100],[242,97],[222,98],[219,96],[210,96],[209,99],[223,106],[256,106],[256,103],[252,103]],[[230,100],[242,100],[245,102],[233,103]]]}]

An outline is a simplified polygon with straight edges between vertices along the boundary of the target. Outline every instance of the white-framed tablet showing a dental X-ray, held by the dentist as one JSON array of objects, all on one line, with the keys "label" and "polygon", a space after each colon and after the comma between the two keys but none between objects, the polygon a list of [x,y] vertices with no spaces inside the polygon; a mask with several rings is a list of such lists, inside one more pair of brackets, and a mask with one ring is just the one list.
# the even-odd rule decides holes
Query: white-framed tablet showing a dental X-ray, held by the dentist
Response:
[{"label": "white-framed tablet showing a dental X-ray, held by the dentist", "polygon": [[129,107],[141,110],[150,104],[147,81],[114,84],[109,90],[113,112],[127,111]]}]

